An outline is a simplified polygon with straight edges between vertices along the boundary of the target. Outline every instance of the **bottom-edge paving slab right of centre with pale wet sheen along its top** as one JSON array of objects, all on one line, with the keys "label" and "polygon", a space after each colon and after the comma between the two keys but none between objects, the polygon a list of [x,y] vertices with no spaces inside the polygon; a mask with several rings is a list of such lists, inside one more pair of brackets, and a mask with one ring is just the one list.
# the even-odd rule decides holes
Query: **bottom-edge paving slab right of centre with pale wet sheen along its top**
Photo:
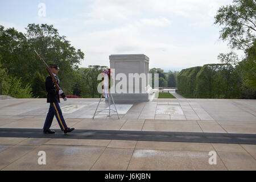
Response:
[{"label": "bottom-edge paving slab right of centre with pale wet sheen along its top", "polygon": [[134,150],[128,170],[226,170],[220,159],[209,165],[208,152],[175,150]]}]

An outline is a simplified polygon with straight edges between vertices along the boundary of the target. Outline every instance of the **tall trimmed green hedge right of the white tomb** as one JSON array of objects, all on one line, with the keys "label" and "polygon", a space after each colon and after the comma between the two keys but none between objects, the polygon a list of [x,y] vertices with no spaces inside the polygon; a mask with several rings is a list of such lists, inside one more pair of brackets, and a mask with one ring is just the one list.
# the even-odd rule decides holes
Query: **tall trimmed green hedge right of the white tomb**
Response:
[{"label": "tall trimmed green hedge right of the white tomb", "polygon": [[256,90],[243,84],[241,67],[231,64],[183,69],[177,89],[186,98],[256,98]]}]

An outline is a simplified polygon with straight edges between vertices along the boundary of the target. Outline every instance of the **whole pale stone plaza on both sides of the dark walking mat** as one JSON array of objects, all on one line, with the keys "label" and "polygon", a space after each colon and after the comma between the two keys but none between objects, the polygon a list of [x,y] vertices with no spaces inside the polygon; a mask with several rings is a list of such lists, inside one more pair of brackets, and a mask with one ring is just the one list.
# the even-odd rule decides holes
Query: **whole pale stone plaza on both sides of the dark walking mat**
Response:
[{"label": "whole pale stone plaza on both sides of the dark walking mat", "polygon": [[[108,113],[97,113],[92,119],[98,101],[98,98],[61,101],[68,127],[256,134],[255,100],[176,98],[118,102],[117,105],[124,105],[118,107],[120,119],[117,114],[107,117]],[[108,104],[101,102],[99,109],[106,108]],[[46,99],[0,100],[0,128],[42,129],[47,111]],[[56,119],[51,129],[60,129]],[[256,144],[68,138],[73,133],[63,134],[63,138],[51,138],[48,134],[45,138],[0,137],[0,169],[256,170]],[[39,151],[46,152],[46,165],[38,164]],[[209,151],[217,152],[217,164],[208,163]]]}]

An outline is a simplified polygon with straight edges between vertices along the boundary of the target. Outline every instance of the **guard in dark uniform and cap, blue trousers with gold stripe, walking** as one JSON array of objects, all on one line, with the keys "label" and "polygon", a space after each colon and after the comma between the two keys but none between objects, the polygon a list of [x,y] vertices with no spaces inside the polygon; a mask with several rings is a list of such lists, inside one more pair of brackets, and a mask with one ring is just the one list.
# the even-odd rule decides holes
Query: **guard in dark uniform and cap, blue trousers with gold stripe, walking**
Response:
[{"label": "guard in dark uniform and cap, blue trousers with gold stripe, walking", "polygon": [[[50,64],[50,68],[52,75],[56,78],[56,81],[59,84],[60,80],[57,77],[57,73],[59,72],[59,66],[57,64]],[[43,132],[49,134],[55,133],[55,131],[49,129],[52,125],[52,119],[54,115],[60,125],[61,131],[64,131],[64,133],[73,131],[74,128],[67,127],[59,105],[59,94],[64,99],[64,101],[67,101],[67,97],[64,95],[63,90],[56,89],[55,83],[53,82],[51,76],[46,77],[46,91],[48,93],[47,103],[49,103],[50,105],[46,121],[44,122]]]}]

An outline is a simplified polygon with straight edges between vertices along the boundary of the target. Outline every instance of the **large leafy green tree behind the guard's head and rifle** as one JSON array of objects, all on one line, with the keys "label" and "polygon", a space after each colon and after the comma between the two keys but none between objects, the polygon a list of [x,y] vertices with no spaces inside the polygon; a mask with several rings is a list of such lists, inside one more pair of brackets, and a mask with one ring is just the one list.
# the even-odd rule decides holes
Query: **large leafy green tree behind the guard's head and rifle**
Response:
[{"label": "large leafy green tree behind the guard's head and rifle", "polygon": [[59,64],[61,88],[65,94],[72,93],[75,83],[71,78],[75,76],[78,65],[84,59],[84,53],[71,46],[65,36],[60,36],[52,25],[28,24],[26,31],[26,34],[22,34],[14,28],[5,30],[0,26],[2,68],[7,68],[10,76],[22,77],[24,85],[31,82],[35,71],[47,76],[46,68],[35,55],[36,49],[48,65]]}]

